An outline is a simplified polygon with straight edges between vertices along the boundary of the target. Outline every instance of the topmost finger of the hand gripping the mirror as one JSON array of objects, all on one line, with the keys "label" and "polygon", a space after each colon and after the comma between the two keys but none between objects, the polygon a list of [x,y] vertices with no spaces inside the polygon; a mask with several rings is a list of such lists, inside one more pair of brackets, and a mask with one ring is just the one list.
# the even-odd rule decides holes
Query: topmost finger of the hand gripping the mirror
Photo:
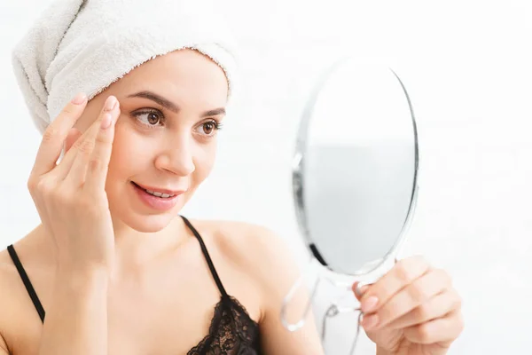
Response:
[{"label": "topmost finger of the hand gripping the mirror", "polygon": [[422,256],[412,256],[399,261],[364,293],[361,301],[362,312],[379,310],[392,296],[429,270],[430,265]]}]

